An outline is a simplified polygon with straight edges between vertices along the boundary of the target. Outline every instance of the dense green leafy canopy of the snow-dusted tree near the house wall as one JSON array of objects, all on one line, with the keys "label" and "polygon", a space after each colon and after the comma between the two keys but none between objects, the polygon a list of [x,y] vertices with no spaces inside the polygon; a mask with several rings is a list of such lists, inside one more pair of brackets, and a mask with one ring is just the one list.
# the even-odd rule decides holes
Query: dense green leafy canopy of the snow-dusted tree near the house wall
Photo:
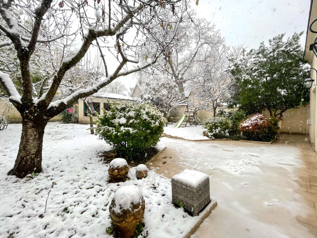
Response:
[{"label": "dense green leafy canopy of the snow-dusted tree near the house wall", "polygon": [[249,115],[268,110],[270,116],[280,118],[287,109],[309,101],[308,90],[301,83],[306,74],[299,42],[302,33],[294,33],[286,41],[284,35],[230,59],[229,71],[240,89],[231,107],[238,104]]}]

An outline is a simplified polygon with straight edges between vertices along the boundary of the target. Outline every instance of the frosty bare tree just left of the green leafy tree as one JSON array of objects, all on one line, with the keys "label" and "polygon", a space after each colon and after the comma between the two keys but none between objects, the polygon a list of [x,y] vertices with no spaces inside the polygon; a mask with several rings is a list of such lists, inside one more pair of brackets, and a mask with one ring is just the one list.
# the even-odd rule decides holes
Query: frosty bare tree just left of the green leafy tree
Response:
[{"label": "frosty bare tree just left of the green leafy tree", "polygon": [[196,62],[188,71],[187,77],[191,80],[186,84],[186,89],[191,91],[193,96],[187,99],[187,103],[194,107],[195,111],[204,109],[212,111],[213,116],[216,116],[217,108],[235,94],[237,88],[227,70],[228,59],[240,49],[229,49],[224,45],[210,48],[205,53],[208,57]]}]

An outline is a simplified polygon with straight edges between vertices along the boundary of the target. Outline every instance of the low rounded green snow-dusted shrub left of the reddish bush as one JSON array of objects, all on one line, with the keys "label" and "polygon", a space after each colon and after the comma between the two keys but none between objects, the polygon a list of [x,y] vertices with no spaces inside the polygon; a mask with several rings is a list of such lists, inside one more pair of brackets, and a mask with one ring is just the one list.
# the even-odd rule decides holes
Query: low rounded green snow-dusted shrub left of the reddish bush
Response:
[{"label": "low rounded green snow-dusted shrub left of the reddish bush", "polygon": [[225,116],[216,116],[206,119],[203,128],[207,136],[212,140],[229,136],[229,120]]}]

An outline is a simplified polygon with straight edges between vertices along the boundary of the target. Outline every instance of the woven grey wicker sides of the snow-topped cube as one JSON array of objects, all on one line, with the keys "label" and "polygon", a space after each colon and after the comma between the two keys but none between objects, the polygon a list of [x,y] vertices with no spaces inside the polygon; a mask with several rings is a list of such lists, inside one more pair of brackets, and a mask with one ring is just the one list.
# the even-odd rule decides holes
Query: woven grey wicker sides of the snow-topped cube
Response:
[{"label": "woven grey wicker sides of the snow-topped cube", "polygon": [[203,182],[193,187],[184,182],[172,178],[172,202],[177,205],[177,201],[184,204],[185,211],[192,216],[199,215],[210,203],[209,177]]}]

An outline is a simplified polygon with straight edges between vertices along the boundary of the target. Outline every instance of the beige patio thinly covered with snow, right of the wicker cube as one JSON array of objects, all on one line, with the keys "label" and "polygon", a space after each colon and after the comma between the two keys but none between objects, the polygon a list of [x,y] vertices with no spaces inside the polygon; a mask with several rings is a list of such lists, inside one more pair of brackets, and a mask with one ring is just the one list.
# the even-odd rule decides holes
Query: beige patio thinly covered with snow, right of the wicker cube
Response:
[{"label": "beige patio thinly covered with snow, right of the wicker cube", "polygon": [[309,183],[301,187],[308,178],[300,147],[166,137],[161,142],[168,147],[152,163],[157,173],[171,177],[195,169],[210,176],[218,205],[192,238],[317,237],[317,195],[307,190]]}]

